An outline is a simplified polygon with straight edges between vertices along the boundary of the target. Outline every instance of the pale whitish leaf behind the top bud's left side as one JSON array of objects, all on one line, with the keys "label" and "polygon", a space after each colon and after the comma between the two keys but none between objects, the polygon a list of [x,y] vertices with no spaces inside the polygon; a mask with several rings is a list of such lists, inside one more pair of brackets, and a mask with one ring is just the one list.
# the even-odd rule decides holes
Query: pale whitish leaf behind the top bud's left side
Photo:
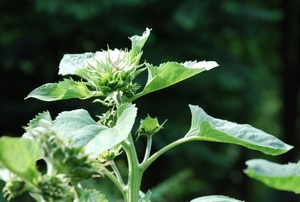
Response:
[{"label": "pale whitish leaf behind the top bud's left side", "polygon": [[[94,56],[94,53],[65,54],[59,63],[60,75],[77,75],[79,69],[87,66],[87,60]],[[78,75],[79,76],[79,75]]]}]

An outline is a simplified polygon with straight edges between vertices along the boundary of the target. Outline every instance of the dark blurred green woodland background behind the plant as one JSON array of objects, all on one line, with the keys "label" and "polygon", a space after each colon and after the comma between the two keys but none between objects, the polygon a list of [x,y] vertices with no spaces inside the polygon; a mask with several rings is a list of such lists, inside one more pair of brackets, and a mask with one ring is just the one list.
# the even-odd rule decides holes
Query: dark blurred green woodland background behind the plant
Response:
[{"label": "dark blurred green woodland background behind the plant", "polygon": [[[249,123],[295,149],[269,157],[234,145],[188,143],[150,167],[143,190],[157,193],[154,202],[211,194],[255,202],[299,201],[299,196],[265,187],[242,172],[251,158],[299,160],[299,9],[297,0],[1,0],[0,135],[21,136],[22,126],[45,110],[53,117],[77,108],[93,115],[104,112],[91,100],[46,103],[24,97],[44,83],[61,80],[57,72],[63,54],[95,52],[107,44],[129,48],[127,37],[149,27],[143,55],[147,62],[214,60],[220,65],[137,101],[137,120],[147,113],[168,119],[154,139],[154,150],[188,131],[188,104],[214,117]],[[119,163],[124,164],[121,158]],[[101,189],[111,186],[105,182]],[[118,199],[116,192],[106,193],[111,201]],[[14,201],[31,200],[24,195]]]}]

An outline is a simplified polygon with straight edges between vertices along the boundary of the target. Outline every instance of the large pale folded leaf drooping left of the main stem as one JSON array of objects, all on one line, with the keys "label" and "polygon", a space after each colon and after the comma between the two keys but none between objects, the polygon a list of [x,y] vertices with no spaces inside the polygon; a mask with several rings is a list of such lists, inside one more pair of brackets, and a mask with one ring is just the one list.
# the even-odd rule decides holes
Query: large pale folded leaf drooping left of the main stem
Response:
[{"label": "large pale folded leaf drooping left of the main stem", "polygon": [[54,130],[61,138],[72,139],[76,146],[84,146],[91,157],[96,157],[127,138],[134,124],[136,111],[134,105],[121,105],[113,128],[95,122],[83,109],[62,112],[54,121]]}]

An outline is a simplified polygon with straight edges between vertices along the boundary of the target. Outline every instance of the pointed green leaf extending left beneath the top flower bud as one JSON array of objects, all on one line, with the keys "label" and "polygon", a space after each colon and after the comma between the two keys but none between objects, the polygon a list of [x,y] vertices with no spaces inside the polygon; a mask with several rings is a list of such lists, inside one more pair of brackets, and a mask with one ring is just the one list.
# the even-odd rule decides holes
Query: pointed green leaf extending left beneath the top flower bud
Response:
[{"label": "pointed green leaf extending left beneath the top flower bud", "polygon": [[65,79],[59,83],[47,83],[34,89],[25,99],[36,98],[43,101],[56,101],[71,98],[87,99],[93,94],[83,82]]}]

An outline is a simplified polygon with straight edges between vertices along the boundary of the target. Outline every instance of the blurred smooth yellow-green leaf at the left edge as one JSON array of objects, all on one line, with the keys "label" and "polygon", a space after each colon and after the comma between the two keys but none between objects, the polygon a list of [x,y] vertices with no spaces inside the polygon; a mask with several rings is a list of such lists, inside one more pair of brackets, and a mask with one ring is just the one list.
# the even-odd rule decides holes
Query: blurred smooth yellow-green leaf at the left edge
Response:
[{"label": "blurred smooth yellow-green leaf at the left edge", "polygon": [[0,164],[24,181],[37,184],[40,173],[36,168],[32,148],[36,143],[27,138],[1,137]]}]

